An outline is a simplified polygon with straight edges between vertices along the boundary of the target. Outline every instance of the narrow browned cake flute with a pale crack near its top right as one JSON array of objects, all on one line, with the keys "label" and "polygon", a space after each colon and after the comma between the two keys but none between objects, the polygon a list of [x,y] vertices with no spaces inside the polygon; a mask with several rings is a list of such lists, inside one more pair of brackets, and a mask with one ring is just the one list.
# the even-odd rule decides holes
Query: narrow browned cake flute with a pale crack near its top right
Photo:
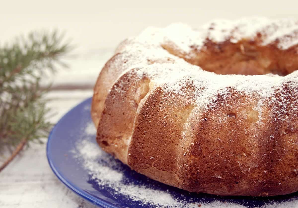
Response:
[{"label": "narrow browned cake flute with a pale crack near its top right", "polygon": [[[133,70],[132,70],[133,71]],[[97,128],[97,142],[108,153],[127,163],[127,148],[140,101],[149,91],[147,77],[129,82],[134,72],[123,74],[110,90]]]}]

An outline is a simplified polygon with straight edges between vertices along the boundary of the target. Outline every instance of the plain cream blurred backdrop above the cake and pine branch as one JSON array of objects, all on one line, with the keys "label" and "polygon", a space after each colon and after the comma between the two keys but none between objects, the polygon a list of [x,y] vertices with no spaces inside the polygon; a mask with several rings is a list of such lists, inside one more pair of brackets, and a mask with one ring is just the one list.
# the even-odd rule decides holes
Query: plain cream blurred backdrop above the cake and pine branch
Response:
[{"label": "plain cream blurred backdrop above the cake and pine branch", "polygon": [[0,1],[0,43],[35,29],[66,31],[78,53],[114,49],[147,26],[184,22],[193,27],[215,18],[243,16],[298,18],[298,1]]}]

